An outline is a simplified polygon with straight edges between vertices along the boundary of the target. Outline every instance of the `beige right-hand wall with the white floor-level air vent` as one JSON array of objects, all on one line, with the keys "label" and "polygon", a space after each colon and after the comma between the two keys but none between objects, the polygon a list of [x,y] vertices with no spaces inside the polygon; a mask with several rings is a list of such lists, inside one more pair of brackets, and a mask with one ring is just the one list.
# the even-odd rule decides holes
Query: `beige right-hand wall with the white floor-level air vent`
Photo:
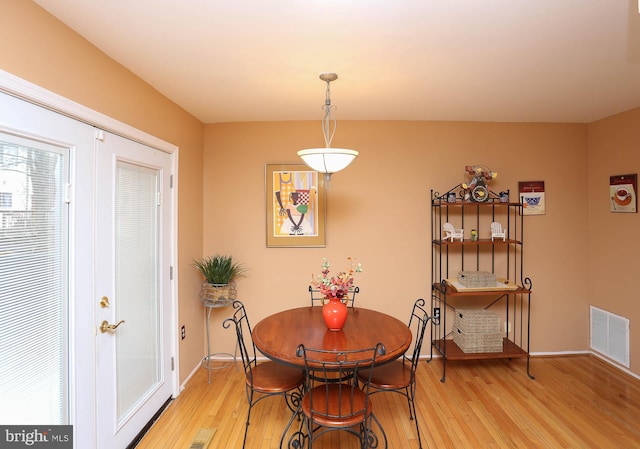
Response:
[{"label": "beige right-hand wall with the white floor-level air vent", "polygon": [[640,215],[611,213],[609,177],[640,172],[640,108],[589,125],[589,301],[630,320],[631,370],[640,373]]}]

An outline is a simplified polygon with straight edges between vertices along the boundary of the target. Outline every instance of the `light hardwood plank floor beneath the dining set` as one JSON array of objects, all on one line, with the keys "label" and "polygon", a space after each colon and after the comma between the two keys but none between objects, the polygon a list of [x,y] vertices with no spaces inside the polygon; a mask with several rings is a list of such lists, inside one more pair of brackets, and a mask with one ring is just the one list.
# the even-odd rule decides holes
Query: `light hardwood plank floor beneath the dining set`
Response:
[{"label": "light hardwood plank floor beneath the dining set", "polygon": [[[421,362],[417,409],[423,447],[443,448],[640,448],[640,381],[593,356],[535,357],[529,379],[524,360]],[[242,447],[247,400],[241,369],[201,369],[137,449],[188,449],[200,428],[216,428],[209,449]],[[390,449],[418,447],[406,400],[373,396],[374,413]],[[254,407],[247,448],[278,448],[291,416],[282,398]],[[334,432],[316,449],[356,448],[356,439]]]}]

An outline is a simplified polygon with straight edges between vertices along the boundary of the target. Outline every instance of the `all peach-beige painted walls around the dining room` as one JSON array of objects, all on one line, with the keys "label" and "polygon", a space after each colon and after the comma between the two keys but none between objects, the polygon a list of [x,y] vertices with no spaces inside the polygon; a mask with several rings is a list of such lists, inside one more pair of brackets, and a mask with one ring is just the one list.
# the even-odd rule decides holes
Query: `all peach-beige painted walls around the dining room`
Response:
[{"label": "all peach-beige painted walls around the dining room", "polygon": [[[298,163],[296,150],[322,145],[317,121],[203,126],[32,2],[3,0],[0,13],[11,17],[0,28],[0,69],[180,147],[182,380],[204,350],[194,258],[229,253],[249,268],[239,291],[255,323],[306,303],[323,257],[336,268],[357,257],[365,267],[359,304],[405,320],[414,299],[430,292],[429,191],[461,182],[467,164],[498,171],[494,190],[545,181],[546,215],[525,219],[532,351],[588,350],[590,303],[632,325],[640,319],[627,289],[639,218],[609,213],[603,189],[610,174],[638,172],[640,110],[590,125],[341,121],[334,145],[360,157],[334,176],[327,247],[266,248],[264,165]],[[227,312],[214,313],[216,351],[234,349],[231,331],[220,326]],[[632,333],[631,347],[639,344]]]}]

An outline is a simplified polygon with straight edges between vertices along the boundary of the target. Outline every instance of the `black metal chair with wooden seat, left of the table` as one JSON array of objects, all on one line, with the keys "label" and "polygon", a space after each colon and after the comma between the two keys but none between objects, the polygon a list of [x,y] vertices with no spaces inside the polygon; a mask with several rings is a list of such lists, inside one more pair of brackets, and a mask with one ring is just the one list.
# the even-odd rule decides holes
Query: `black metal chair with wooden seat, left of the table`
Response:
[{"label": "black metal chair with wooden seat, left of the table", "polygon": [[[304,385],[304,371],[291,368],[275,362],[257,363],[256,347],[251,339],[251,326],[244,304],[240,301],[233,302],[236,309],[233,316],[222,322],[222,326],[228,329],[235,327],[238,339],[238,348],[242,356],[242,364],[245,373],[245,388],[247,400],[249,401],[249,411],[247,412],[247,423],[244,429],[244,441],[242,447],[247,442],[247,431],[251,409],[262,399],[271,396],[283,396],[285,402],[292,412],[296,412],[302,398],[302,388]],[[258,393],[256,398],[254,395]]]}]

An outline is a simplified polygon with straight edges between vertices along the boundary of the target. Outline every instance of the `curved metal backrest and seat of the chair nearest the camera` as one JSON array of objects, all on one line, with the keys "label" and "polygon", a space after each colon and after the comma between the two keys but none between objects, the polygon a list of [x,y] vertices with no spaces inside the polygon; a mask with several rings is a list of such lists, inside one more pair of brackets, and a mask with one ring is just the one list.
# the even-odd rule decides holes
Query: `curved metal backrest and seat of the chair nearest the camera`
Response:
[{"label": "curved metal backrest and seat of the chair nearest the camera", "polygon": [[[375,364],[376,357],[385,352],[382,343],[373,348],[351,351],[312,349],[299,345],[297,355],[304,357],[307,382],[305,391],[309,397],[311,422],[314,422],[314,415],[323,421],[344,421],[353,417],[364,420],[368,417],[371,411],[368,397],[373,374],[373,369],[370,368]],[[358,372],[366,369],[366,382],[365,379],[361,379],[360,383],[353,380],[358,379]],[[361,392],[364,392],[366,400],[354,400],[362,396]]]}]

